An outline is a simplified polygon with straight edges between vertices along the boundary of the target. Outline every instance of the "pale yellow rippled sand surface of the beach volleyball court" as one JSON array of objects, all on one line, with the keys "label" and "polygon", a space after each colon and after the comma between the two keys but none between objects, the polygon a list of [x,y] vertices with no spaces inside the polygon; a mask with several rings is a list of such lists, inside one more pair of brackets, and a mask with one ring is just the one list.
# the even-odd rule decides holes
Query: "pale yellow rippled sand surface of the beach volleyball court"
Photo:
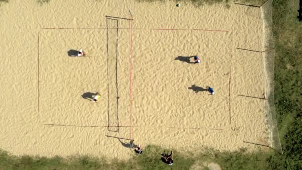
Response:
[{"label": "pale yellow rippled sand surface of the beach volleyball court", "polygon": [[[263,56],[254,52],[265,50],[259,8],[137,0],[0,4],[1,149],[128,159],[127,139],[182,152],[269,144]],[[134,20],[123,19],[129,9]],[[87,56],[70,57],[71,49]],[[193,55],[200,64],[175,60]],[[98,102],[82,97],[97,91]]]}]

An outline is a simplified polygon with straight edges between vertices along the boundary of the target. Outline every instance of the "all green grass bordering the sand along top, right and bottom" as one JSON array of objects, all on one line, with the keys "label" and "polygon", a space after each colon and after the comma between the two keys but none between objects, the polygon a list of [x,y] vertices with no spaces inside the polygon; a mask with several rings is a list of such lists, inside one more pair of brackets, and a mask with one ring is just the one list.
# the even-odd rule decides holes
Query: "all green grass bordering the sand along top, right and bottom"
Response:
[{"label": "all green grass bordering the sand along top, right and bottom", "polygon": [[[8,0],[0,0],[0,2]],[[48,1],[48,0],[42,0]],[[139,0],[154,1],[154,0]],[[163,0],[161,0],[163,1]],[[195,5],[222,0],[188,0]],[[260,0],[261,1],[261,0]],[[260,4],[259,0],[245,0]],[[181,2],[181,1],[180,1]],[[229,2],[227,0],[227,2]],[[230,3],[230,2],[229,2]],[[191,166],[205,167],[218,163],[224,170],[301,170],[302,169],[302,22],[298,21],[299,0],[273,1],[273,32],[276,39],[274,67],[275,107],[283,155],[277,152],[248,153],[219,152],[212,149],[180,154],[175,151],[174,164],[161,162],[162,153],[170,151],[158,146],[147,146],[143,155],[133,154],[129,161],[88,156],[33,157],[10,155],[0,151],[1,170],[187,170]]]}]

